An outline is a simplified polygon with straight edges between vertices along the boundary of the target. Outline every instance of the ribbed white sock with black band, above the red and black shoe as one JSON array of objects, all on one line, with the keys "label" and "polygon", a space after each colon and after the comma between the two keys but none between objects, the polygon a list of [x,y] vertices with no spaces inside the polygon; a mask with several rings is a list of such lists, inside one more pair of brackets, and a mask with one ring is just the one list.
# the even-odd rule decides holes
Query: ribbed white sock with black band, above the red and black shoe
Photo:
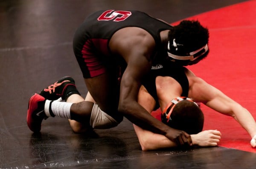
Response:
[{"label": "ribbed white sock with black band, above the red and black shoe", "polygon": [[46,100],[44,104],[44,112],[48,117],[58,116],[70,119],[70,107],[72,104],[73,103]]}]

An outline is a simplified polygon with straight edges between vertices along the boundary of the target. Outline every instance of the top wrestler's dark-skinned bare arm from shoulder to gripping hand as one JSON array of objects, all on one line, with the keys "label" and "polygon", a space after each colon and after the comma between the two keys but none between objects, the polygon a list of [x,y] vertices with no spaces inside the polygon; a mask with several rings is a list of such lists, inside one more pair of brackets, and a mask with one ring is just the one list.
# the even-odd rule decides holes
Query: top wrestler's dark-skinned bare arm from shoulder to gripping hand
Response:
[{"label": "top wrestler's dark-skinned bare arm from shoulder to gripping hand", "polygon": [[109,46],[114,54],[122,56],[127,63],[120,85],[119,112],[134,124],[166,135],[177,144],[191,144],[190,135],[158,121],[137,102],[140,81],[150,70],[151,57],[155,54],[153,37],[141,28],[123,28],[113,35]]}]

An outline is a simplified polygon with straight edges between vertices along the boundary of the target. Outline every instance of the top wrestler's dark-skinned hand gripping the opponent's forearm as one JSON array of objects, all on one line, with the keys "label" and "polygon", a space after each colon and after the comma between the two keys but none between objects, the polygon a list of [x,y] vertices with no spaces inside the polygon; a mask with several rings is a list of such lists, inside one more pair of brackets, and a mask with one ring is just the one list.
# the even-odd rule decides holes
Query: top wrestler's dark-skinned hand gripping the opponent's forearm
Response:
[{"label": "top wrestler's dark-skinned hand gripping the opponent's forearm", "polygon": [[191,136],[184,131],[171,128],[165,136],[175,142],[177,146],[192,146]]}]

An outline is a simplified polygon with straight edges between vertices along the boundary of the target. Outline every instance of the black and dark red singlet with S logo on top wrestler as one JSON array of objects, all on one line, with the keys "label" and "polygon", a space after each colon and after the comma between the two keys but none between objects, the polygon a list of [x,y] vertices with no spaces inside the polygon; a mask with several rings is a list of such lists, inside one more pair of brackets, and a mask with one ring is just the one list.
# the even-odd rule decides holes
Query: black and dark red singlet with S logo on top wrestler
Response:
[{"label": "black and dark red singlet with S logo on top wrestler", "polygon": [[[155,40],[155,52],[163,53],[157,56],[167,55],[166,49],[161,45],[160,31],[172,29],[171,25],[140,11],[97,11],[80,25],[73,39],[73,50],[84,78],[104,73],[105,67],[112,64],[113,60],[116,61],[108,43],[116,31],[125,27],[138,27],[148,31]],[[159,59],[155,56],[151,56],[151,59]]]}]

